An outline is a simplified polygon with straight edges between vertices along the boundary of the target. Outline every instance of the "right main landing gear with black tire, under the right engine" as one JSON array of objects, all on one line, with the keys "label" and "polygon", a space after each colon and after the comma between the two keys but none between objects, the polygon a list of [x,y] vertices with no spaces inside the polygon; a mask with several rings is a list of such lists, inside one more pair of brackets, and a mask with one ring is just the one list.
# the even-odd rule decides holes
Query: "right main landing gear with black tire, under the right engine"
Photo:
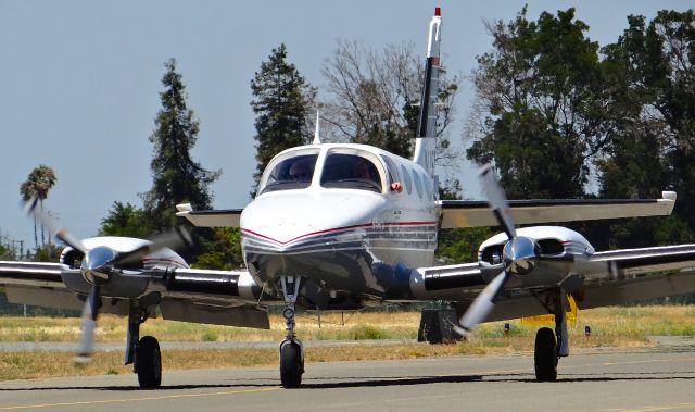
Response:
[{"label": "right main landing gear with black tire, under the right engine", "polygon": [[555,314],[555,333],[549,327],[542,327],[535,334],[533,361],[535,378],[540,382],[556,380],[559,359],[569,355],[565,291],[560,289],[554,294],[551,304],[554,307],[552,312]]}]

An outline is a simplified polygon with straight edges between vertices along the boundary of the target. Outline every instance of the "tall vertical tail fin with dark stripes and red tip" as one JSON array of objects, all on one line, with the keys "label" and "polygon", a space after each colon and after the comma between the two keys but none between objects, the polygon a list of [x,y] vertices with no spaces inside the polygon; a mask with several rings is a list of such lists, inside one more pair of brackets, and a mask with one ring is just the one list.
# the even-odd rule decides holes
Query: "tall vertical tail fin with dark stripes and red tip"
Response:
[{"label": "tall vertical tail fin with dark stripes and red tip", "polygon": [[425,88],[420,101],[420,115],[415,136],[415,163],[434,178],[434,137],[437,135],[437,93],[439,91],[439,45],[441,41],[441,9],[434,9],[430,21],[425,67]]}]

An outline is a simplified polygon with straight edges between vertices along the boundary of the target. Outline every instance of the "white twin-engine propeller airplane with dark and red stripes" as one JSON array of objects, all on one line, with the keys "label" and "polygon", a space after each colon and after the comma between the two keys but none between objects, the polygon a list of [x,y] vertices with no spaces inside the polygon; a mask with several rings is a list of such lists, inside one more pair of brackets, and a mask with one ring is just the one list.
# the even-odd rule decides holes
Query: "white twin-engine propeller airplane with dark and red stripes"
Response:
[{"label": "white twin-engine propeller airplane with dark and red stripes", "polygon": [[[197,226],[239,227],[247,270],[193,270],[169,247],[182,233],[152,241],[98,237],[67,247],[59,263],[0,262],[0,285],[11,302],[84,307],[78,359],[92,350],[98,312],[128,317],[125,363],[142,388],[161,385],[159,344],[139,338],[154,316],[268,328],[267,308],[283,308],[280,380],[301,385],[304,351],[295,334],[296,308],[358,310],[366,305],[447,301],[466,335],[481,322],[555,314],[556,327],[536,335],[535,375],[554,380],[569,354],[568,297],[580,309],[695,291],[695,245],[595,252],[577,232],[518,224],[667,215],[662,199],[506,201],[490,167],[481,172],[488,201],[437,199],[433,148],[439,88],[439,8],[429,26],[426,78],[414,160],[363,145],[315,142],[275,157],[256,198],[243,210],[179,215]],[[37,213],[37,212],[35,212]],[[40,214],[39,214],[40,215]],[[478,262],[434,266],[438,230],[496,226]]]}]

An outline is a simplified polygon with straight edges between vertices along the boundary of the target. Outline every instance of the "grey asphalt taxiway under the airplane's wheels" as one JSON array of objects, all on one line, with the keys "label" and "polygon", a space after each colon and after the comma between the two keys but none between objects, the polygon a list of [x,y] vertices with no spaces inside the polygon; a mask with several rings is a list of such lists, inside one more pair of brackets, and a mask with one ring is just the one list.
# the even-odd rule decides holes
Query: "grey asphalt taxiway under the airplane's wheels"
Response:
[{"label": "grey asphalt taxiway under the airplane's wheels", "polygon": [[135,375],[0,382],[0,411],[15,410],[692,411],[695,347],[576,352],[554,383],[534,380],[530,353],[314,363],[293,390],[277,367],[165,371],[157,390]]}]

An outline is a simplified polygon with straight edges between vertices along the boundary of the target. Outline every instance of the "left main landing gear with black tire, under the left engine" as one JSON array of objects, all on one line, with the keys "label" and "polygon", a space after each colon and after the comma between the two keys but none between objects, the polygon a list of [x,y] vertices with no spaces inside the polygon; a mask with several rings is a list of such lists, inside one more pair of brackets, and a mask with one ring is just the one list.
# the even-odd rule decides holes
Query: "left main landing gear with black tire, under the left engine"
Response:
[{"label": "left main landing gear with black tire, under the left engine", "polygon": [[138,374],[140,389],[156,389],[162,385],[162,353],[156,338],[140,338],[140,325],[147,319],[147,310],[130,307],[125,364],[134,364],[132,372]]}]

